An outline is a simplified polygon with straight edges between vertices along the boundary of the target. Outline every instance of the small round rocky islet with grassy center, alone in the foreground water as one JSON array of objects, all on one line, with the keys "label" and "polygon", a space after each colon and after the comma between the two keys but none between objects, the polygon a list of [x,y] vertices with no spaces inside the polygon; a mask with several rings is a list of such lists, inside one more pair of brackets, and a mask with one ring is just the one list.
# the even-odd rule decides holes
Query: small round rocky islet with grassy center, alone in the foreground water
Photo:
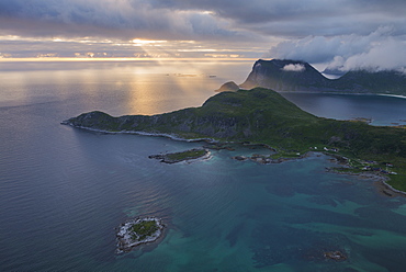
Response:
[{"label": "small round rocky islet with grassy center, alone in the foreground water", "polygon": [[117,253],[127,252],[142,243],[156,241],[165,225],[156,217],[136,218],[124,223],[117,231]]}]

